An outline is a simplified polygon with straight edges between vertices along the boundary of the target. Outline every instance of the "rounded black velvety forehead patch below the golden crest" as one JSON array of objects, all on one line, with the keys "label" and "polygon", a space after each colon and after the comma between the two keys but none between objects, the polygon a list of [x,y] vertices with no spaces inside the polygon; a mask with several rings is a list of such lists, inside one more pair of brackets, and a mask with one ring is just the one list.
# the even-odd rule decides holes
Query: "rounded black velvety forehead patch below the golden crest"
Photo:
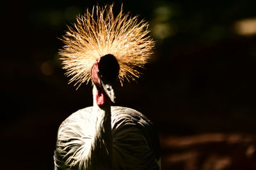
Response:
[{"label": "rounded black velvety forehead patch below the golden crest", "polygon": [[119,64],[116,57],[111,54],[100,57],[99,60],[99,74],[106,79],[115,79],[119,73]]}]

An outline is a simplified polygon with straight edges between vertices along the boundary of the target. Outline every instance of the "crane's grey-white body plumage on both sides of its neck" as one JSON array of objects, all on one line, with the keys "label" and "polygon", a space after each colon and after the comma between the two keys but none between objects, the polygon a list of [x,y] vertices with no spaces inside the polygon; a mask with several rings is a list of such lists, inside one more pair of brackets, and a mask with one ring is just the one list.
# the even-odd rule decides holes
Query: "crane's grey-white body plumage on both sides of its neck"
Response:
[{"label": "crane's grey-white body plumage on both sides of its neck", "polygon": [[[106,150],[107,142],[93,139],[98,119],[93,107],[88,107],[63,121],[58,130],[54,169],[159,169],[159,139],[147,117],[131,108],[111,106],[113,150]],[[104,129],[97,135],[103,140]],[[109,152],[113,154],[113,166],[108,166],[109,160],[104,157]]]}]

